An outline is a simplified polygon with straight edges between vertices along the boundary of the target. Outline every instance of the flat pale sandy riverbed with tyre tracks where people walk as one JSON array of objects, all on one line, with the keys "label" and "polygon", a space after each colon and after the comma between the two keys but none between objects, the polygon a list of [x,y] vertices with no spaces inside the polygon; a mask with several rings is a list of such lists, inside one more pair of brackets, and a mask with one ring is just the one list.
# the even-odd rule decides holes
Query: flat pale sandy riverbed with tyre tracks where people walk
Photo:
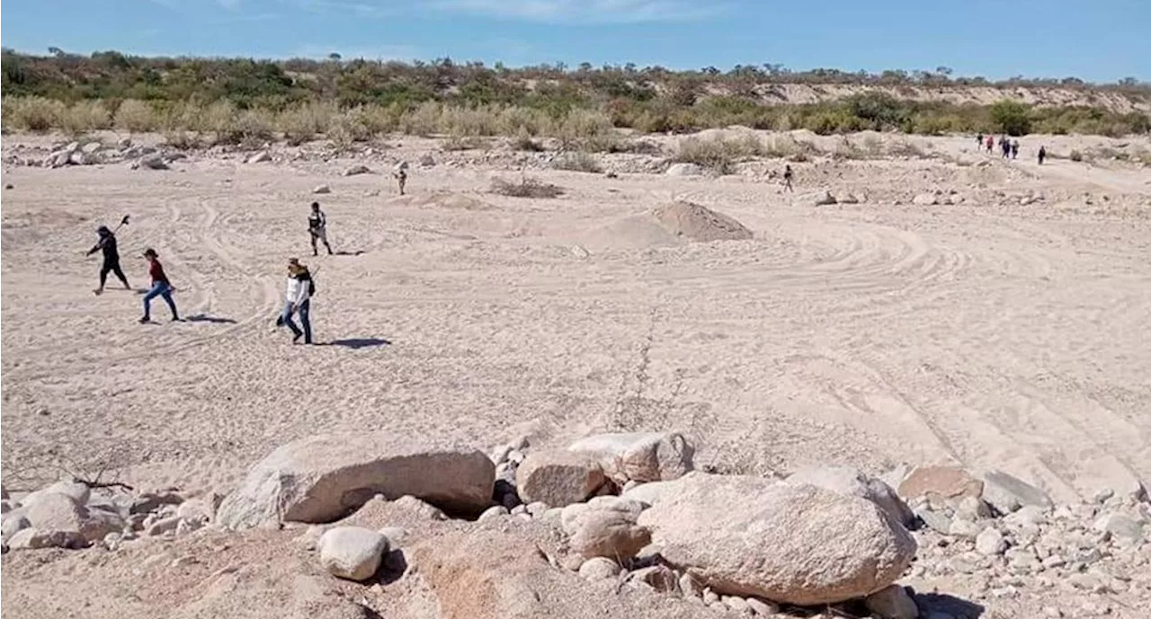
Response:
[{"label": "flat pale sandy riverbed with tyre tracks where people walk", "polygon": [[[918,143],[940,156],[795,163],[800,193],[867,197],[824,207],[756,171],[782,161],[670,177],[628,174],[633,155],[604,159],[618,178],[531,173],[567,190],[557,199],[502,197],[488,186],[518,176],[511,155],[413,138],[326,162],[7,168],[8,484],[62,460],[226,490],[279,444],[367,429],[485,448],[676,429],[723,472],[956,461],[1067,500],[1151,480],[1151,171]],[[441,163],[414,166],[407,197],[379,174],[427,152]],[[352,163],[376,174],[341,177]],[[331,193],[313,196],[321,183]],[[910,204],[933,190],[963,204]],[[313,198],[340,255],[311,257]],[[672,199],[755,238],[653,231],[643,213]],[[123,214],[131,283],[154,247],[186,322],[157,300],[161,322],[137,324],[139,296],[114,282],[92,295],[99,260],[84,251]],[[315,346],[273,330],[290,257],[317,272]]]}]

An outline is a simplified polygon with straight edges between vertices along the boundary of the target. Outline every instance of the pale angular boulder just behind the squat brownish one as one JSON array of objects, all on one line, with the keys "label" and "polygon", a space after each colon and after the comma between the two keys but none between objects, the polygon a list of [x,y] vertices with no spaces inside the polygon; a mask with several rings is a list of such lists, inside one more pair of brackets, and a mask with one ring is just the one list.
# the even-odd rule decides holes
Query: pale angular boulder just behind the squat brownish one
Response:
[{"label": "pale angular boulder just behind the squat brownish one", "polygon": [[617,483],[668,481],[692,471],[695,448],[678,433],[599,434],[581,438],[569,451],[595,453]]}]

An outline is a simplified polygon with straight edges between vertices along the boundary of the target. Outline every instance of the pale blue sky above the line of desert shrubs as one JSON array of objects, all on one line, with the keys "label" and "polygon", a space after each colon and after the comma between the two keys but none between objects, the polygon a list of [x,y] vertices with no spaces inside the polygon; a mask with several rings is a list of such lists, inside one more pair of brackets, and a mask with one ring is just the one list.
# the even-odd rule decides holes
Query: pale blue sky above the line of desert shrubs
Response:
[{"label": "pale blue sky above the line of desert shrubs", "polygon": [[44,53],[935,69],[1151,81],[1151,0],[0,0]]}]

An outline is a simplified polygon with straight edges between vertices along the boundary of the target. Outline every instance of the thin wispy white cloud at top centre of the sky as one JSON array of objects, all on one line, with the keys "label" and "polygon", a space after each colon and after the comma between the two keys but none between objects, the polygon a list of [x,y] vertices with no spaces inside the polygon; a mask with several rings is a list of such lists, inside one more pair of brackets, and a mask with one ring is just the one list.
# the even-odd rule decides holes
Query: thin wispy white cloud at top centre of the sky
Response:
[{"label": "thin wispy white cloud at top centre of the sky", "polygon": [[715,3],[688,0],[429,0],[449,12],[539,22],[634,23],[698,20],[714,15]]}]

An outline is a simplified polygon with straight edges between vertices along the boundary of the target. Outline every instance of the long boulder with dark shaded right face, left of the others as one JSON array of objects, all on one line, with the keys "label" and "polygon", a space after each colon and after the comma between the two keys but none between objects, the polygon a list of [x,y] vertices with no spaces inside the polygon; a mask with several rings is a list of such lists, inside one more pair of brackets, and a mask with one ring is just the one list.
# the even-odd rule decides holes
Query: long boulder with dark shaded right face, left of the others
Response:
[{"label": "long boulder with dark shaded right face, left of the others", "polygon": [[269,519],[331,522],[375,495],[411,495],[449,512],[491,504],[495,465],[474,449],[424,446],[387,433],[320,435],[277,448],[253,466],[216,512],[226,528]]}]

